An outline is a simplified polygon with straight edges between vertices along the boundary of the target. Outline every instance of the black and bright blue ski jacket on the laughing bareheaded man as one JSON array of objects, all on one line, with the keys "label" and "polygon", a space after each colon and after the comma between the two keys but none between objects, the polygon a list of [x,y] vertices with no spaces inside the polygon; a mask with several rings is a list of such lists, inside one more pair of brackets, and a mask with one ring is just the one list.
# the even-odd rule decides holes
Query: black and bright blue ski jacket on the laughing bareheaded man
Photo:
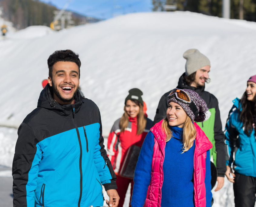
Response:
[{"label": "black and bright blue ski jacket on the laughing bareheaded man", "polygon": [[52,87],[18,129],[13,159],[13,206],[102,206],[102,186],[116,189],[104,150],[96,104],[78,92],[75,104],[60,105]]}]

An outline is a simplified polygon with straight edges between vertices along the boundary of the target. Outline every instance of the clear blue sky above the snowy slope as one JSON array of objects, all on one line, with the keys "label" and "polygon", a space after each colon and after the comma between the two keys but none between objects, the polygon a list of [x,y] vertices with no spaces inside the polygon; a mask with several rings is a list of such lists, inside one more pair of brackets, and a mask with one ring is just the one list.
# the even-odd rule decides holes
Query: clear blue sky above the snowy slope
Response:
[{"label": "clear blue sky above the snowy slope", "polygon": [[[69,0],[41,0],[51,2],[62,9]],[[106,19],[112,16],[132,12],[151,11],[152,0],[72,0],[68,10],[76,11],[83,15]]]}]

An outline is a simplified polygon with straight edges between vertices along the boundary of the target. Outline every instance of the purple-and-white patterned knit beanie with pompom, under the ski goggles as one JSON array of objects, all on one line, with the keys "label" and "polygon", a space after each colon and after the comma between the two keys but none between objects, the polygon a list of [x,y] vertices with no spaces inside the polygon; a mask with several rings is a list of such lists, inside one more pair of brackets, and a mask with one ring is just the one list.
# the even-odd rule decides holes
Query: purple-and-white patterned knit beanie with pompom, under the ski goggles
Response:
[{"label": "purple-and-white patterned knit beanie with pompom, under the ski goggles", "polygon": [[168,100],[168,104],[173,101],[184,109],[184,111],[188,114],[188,116],[191,118],[192,121],[195,122],[203,122],[206,121],[210,118],[211,112],[207,108],[207,105],[205,101],[198,95],[198,93],[194,92],[193,90],[188,90],[188,89],[179,89],[179,90],[184,90],[188,96],[190,97],[191,101],[194,102],[197,110],[198,110],[198,115],[195,117],[195,114],[192,112],[191,108],[189,107],[189,104],[185,104],[178,100],[176,96],[170,98]]}]

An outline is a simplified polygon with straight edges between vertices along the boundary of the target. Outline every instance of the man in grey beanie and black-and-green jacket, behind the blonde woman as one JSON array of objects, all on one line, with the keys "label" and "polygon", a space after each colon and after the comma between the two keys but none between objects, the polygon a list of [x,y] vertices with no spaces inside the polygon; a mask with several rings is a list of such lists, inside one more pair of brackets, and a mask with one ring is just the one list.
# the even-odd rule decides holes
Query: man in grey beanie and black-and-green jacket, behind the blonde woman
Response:
[{"label": "man in grey beanie and black-and-green jacket, behind the blonde woman", "polygon": [[[213,156],[214,164],[218,170],[218,186],[215,191],[221,189],[224,185],[224,175],[226,172],[226,154],[224,133],[222,131],[220,110],[218,107],[218,100],[209,92],[204,90],[205,82],[209,79],[211,63],[209,59],[197,49],[189,49],[185,51],[183,57],[187,60],[185,64],[185,73],[179,78],[178,86],[176,88],[189,89],[197,92],[199,96],[206,102],[211,117],[205,122],[197,123],[204,131],[205,135],[213,144],[210,151]],[[168,108],[168,95],[171,91],[164,94],[158,104],[154,124],[161,121],[166,116]]]}]

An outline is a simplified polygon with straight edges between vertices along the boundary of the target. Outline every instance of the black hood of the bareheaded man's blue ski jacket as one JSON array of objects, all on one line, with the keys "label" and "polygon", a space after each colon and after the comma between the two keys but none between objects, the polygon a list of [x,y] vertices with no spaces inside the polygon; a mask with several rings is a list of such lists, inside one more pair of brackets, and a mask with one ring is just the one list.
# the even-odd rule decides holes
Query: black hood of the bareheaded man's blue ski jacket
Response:
[{"label": "black hood of the bareheaded man's blue ski jacket", "polygon": [[83,98],[84,97],[81,97],[81,94],[78,90],[77,93],[75,94],[75,104],[61,105],[53,99],[52,87],[49,84],[47,84],[40,93],[37,107],[42,107],[48,110],[55,111],[56,113],[62,116],[68,116],[70,113],[73,112],[74,108],[75,108],[75,113],[78,113],[83,103]]}]

